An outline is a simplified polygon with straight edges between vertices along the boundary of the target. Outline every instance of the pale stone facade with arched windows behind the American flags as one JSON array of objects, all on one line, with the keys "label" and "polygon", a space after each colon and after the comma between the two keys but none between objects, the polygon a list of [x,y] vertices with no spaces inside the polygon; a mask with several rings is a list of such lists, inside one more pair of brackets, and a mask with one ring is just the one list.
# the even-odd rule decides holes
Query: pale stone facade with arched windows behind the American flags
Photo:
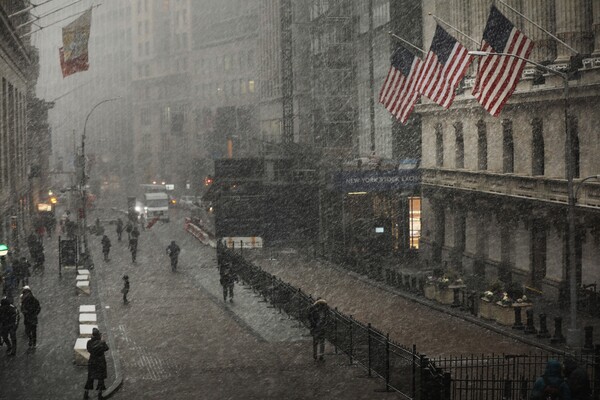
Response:
[{"label": "pale stone facade with arched windows behind the American flags", "polygon": [[[491,1],[425,1],[424,10],[479,40]],[[503,5],[497,5],[535,47],[531,60],[572,73],[564,80],[527,67],[499,117],[471,95],[475,67],[449,110],[422,100],[423,258],[532,293],[564,298],[568,290],[566,129],[575,140],[577,282],[600,279],[600,6],[597,1],[508,1],[554,33],[574,53]],[[435,21],[425,12],[424,43]],[[477,46],[452,32],[468,48]],[[568,97],[568,100],[565,99]],[[568,297],[568,296],[567,296]]]}]

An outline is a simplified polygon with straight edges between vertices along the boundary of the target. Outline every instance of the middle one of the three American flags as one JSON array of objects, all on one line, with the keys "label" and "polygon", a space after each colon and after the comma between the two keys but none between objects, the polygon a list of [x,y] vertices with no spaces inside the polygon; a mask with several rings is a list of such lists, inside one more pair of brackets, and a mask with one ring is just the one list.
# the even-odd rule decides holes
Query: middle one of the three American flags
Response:
[{"label": "middle one of the three American flags", "polygon": [[449,108],[471,61],[469,50],[438,25],[419,78],[419,92]]}]

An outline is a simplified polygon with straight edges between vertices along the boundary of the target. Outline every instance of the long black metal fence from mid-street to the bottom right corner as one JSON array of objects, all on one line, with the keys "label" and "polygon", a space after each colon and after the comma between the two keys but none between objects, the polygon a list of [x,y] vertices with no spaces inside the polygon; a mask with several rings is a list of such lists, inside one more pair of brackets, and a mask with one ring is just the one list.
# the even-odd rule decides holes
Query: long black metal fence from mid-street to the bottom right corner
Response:
[{"label": "long black metal fence from mid-street to the bottom right corner", "polygon": [[[236,252],[217,245],[218,262],[228,263],[243,284],[273,307],[308,327],[310,295],[264,271]],[[398,276],[385,276],[402,285]],[[406,284],[406,283],[404,283]],[[413,288],[415,282],[409,284]],[[395,391],[406,399],[509,400],[528,399],[533,382],[550,359],[563,361],[567,353],[502,354],[428,359],[416,346],[394,342],[371,324],[364,324],[337,309],[329,309],[326,339],[348,357],[349,364],[364,367],[369,376],[381,378],[382,390]],[[577,359],[591,378],[594,400],[600,399],[600,346]]]}]

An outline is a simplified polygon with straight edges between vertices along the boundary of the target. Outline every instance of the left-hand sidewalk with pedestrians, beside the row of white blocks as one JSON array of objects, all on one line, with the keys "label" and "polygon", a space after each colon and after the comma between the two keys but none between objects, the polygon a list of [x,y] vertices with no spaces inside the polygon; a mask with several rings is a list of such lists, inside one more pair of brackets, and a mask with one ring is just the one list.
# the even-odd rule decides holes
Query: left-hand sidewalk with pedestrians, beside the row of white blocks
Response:
[{"label": "left-hand sidewalk with pedestrians, beside the row of white blocks", "polygon": [[[37,348],[29,349],[23,320],[17,329],[17,355],[7,357],[6,347],[0,351],[0,399],[80,399],[87,377],[87,368],[74,364],[76,339],[79,337],[79,306],[95,304],[98,325],[104,334],[108,327],[103,320],[98,283],[92,271],[91,296],[78,296],[75,270],[58,274],[58,236],[44,239],[46,265],[43,274],[29,279],[29,286],[40,301]],[[29,256],[28,252],[26,256]],[[29,257],[28,257],[29,258]],[[20,291],[19,291],[20,293]],[[111,346],[109,342],[109,346]],[[115,349],[106,353],[108,364],[107,387],[115,380]]]}]

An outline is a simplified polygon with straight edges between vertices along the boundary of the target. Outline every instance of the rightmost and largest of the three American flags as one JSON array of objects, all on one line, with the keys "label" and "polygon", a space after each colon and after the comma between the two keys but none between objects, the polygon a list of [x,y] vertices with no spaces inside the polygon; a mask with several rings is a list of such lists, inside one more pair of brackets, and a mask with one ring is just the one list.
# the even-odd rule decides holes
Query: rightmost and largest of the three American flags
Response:
[{"label": "rightmost and largest of the three American flags", "polygon": [[[481,51],[527,58],[533,42],[492,6]],[[526,62],[511,56],[484,56],[479,61],[473,96],[493,116],[498,116],[519,83]]]}]

